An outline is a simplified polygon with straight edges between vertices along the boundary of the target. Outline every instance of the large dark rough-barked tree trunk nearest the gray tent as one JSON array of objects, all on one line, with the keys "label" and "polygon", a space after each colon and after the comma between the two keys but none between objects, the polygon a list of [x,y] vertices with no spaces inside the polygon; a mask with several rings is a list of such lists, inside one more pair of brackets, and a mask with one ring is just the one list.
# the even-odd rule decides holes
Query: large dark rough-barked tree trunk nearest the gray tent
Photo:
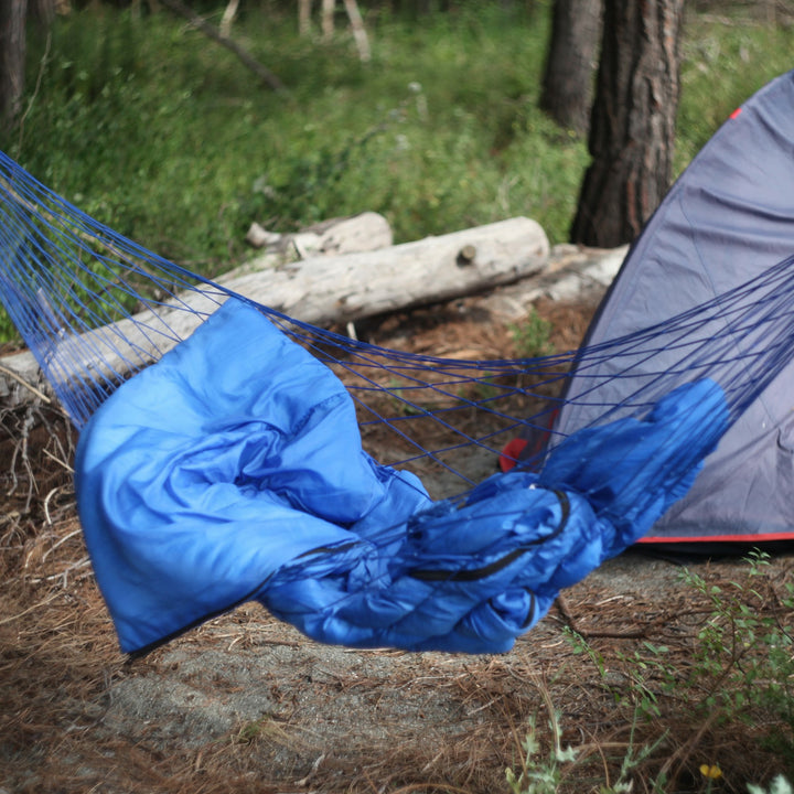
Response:
[{"label": "large dark rough-barked tree trunk nearest the gray tent", "polygon": [[607,0],[598,88],[571,242],[631,243],[669,187],[684,0]]}]

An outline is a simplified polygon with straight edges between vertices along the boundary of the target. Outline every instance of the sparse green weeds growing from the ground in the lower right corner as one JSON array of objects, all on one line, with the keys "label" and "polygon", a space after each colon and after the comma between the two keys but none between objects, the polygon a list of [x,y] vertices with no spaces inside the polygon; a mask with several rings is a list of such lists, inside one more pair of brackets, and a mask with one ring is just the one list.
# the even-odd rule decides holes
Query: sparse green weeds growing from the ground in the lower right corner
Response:
[{"label": "sparse green weeds growing from the ground in the lower right corner", "polygon": [[[518,733],[516,762],[506,770],[513,794],[791,794],[783,775],[794,770],[794,584],[758,550],[730,580],[718,583],[707,567],[700,570],[682,569],[689,592],[684,614],[697,615],[689,636],[686,621],[662,631],[664,645],[648,639],[615,645],[598,633],[590,644],[567,630],[571,648],[590,657],[614,704],[601,723],[610,741],[599,744],[581,730],[590,717],[582,711],[578,730],[565,730],[547,688],[552,682],[539,680],[547,723],[533,717]],[[627,740],[616,740],[619,725],[629,728]],[[603,780],[598,788],[588,785],[593,771]],[[744,784],[760,776],[772,779],[769,790]]]}]

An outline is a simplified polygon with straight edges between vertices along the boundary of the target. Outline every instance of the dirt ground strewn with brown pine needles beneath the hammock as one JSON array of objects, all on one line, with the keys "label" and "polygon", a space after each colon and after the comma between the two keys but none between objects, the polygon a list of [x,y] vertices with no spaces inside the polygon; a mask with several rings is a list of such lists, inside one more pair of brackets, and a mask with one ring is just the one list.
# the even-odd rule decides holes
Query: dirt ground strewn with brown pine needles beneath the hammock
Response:
[{"label": "dirt ground strewn with brown pine needles beneath the hammock", "polygon": [[[564,348],[592,309],[538,308]],[[385,345],[408,333],[440,355],[512,354],[507,325],[455,311],[410,333],[409,318],[367,332]],[[704,657],[699,639],[719,621],[709,588],[790,625],[788,555],[752,578],[738,558],[626,554],[568,590],[504,655],[322,646],[249,604],[130,662],[81,538],[74,432],[52,408],[1,419],[0,794],[494,794],[509,791],[508,766],[547,771],[541,792],[598,792],[622,766],[635,792],[744,792],[791,773],[780,751],[791,720],[722,702],[752,648]],[[484,465],[490,473],[493,461]],[[522,762],[533,722],[535,768]],[[550,726],[575,760],[549,760]],[[705,776],[704,764],[721,776]]]}]

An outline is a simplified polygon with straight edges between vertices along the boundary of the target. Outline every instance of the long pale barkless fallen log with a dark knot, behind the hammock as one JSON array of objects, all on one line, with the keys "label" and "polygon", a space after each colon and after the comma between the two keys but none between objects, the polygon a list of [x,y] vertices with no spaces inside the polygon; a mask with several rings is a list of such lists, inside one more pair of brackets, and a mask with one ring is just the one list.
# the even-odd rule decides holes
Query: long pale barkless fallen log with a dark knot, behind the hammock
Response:
[{"label": "long pale barkless fallen log with a dark knot, behind the hammock", "polygon": [[[346,323],[472,294],[539,273],[549,244],[529,218],[512,218],[440,237],[344,256],[290,262],[279,269],[234,271],[216,287],[186,291],[174,300],[81,335],[65,334],[47,358],[68,372],[124,375],[159,358],[189,336],[229,292],[242,294],[314,325]],[[244,268],[245,269],[245,268]],[[56,345],[56,346],[55,346]],[[0,360],[0,401],[30,403],[51,388],[30,352]]]}]

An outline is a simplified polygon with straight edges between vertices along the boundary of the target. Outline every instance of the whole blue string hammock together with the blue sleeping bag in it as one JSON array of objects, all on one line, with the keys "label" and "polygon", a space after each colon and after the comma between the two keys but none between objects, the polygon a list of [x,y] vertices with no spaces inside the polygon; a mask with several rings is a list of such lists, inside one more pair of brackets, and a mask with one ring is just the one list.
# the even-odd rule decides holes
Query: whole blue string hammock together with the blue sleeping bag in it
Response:
[{"label": "whole blue string hammock together with the blue sleeping bag in it", "polygon": [[[0,298],[81,430],[81,521],[129,653],[247,600],[322,642],[509,648],[686,493],[791,361],[792,291],[786,259],[609,343],[415,355],[232,293],[0,154]],[[636,387],[609,403],[608,377]],[[556,432],[564,401],[596,418]],[[474,482],[472,457],[496,471],[519,432],[537,452]]]}]

